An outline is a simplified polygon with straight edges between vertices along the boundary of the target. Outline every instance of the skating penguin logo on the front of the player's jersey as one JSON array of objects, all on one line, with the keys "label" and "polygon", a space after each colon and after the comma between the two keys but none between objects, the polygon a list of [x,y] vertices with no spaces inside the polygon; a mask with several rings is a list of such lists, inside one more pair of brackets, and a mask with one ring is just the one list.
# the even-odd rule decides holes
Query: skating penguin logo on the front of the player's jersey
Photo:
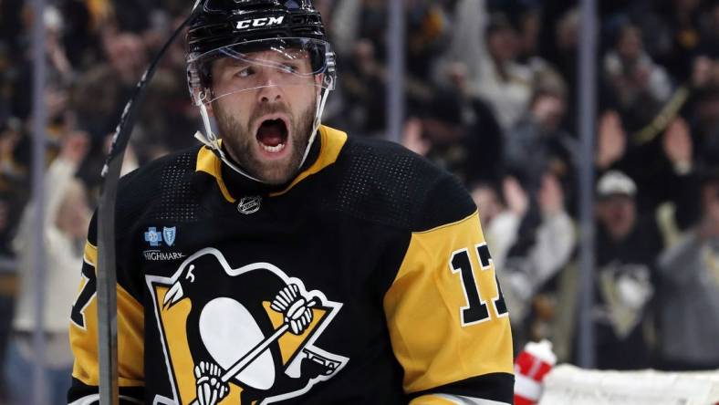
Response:
[{"label": "skating penguin logo on the front of the player's jersey", "polygon": [[205,248],[172,277],[146,278],[174,396],[156,403],[288,400],[349,361],[314,346],[342,304],[276,265],[233,268]]}]

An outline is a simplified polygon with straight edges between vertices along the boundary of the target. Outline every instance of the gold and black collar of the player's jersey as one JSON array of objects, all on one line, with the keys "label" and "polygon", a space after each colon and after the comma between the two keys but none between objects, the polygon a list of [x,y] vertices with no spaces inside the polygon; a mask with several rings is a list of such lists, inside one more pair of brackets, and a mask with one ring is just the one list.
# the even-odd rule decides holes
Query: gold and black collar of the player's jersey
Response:
[{"label": "gold and black collar of the player's jersey", "polygon": [[282,195],[289,192],[307,177],[322,171],[337,161],[339,151],[342,150],[347,141],[347,134],[340,130],[320,126],[318,140],[315,141],[316,145],[319,144],[319,152],[316,152],[317,157],[314,160],[308,160],[311,163],[306,163],[303,170],[297,174],[297,177],[285,185],[267,186],[266,184],[253,182],[245,177],[233,176],[231,170],[223,170],[222,161],[207,147],[202,147],[198,151],[195,171],[203,171],[213,176],[224,199],[229,203],[235,203],[237,201],[236,196],[246,195],[247,193],[265,193],[271,197]]}]

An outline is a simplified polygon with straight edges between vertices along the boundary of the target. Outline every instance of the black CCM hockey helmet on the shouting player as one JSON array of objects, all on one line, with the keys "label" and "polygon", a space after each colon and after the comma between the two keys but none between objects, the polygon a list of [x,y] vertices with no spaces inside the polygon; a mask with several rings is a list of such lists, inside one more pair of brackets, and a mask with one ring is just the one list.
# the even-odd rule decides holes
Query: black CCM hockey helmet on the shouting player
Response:
[{"label": "black CCM hockey helmet on the shouting player", "polygon": [[197,6],[202,9],[188,28],[186,54],[188,85],[196,105],[247,89],[213,93],[211,67],[217,58],[283,68],[276,60],[252,56],[267,49],[290,59],[299,50],[311,64],[305,76],[322,74],[321,87],[334,88],[334,52],[322,18],[309,0],[201,0]]}]

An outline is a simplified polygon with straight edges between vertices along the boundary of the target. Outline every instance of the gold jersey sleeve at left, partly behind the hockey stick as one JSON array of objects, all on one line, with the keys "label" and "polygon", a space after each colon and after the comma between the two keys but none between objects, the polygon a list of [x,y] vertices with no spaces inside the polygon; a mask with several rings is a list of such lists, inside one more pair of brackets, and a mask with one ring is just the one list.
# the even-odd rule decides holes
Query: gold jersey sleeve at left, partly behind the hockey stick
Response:
[{"label": "gold jersey sleeve at left, partly behind the hockey stick", "polygon": [[[78,296],[70,314],[70,347],[75,362],[69,404],[99,403],[99,349],[97,307],[98,248],[94,242],[96,221],[90,224],[85,244]],[[143,337],[141,303],[118,284],[118,386],[120,403],[144,403]]]}]

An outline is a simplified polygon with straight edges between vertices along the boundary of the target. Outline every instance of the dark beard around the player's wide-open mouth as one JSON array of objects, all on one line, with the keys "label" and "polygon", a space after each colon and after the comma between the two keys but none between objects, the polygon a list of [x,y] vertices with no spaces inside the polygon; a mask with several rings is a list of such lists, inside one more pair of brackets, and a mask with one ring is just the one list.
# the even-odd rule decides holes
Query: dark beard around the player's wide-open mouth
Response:
[{"label": "dark beard around the player's wide-open mouth", "polygon": [[[214,118],[217,121],[224,147],[247,174],[269,184],[284,184],[297,175],[299,165],[307,150],[316,108],[317,101],[315,100],[300,115],[299,119],[295,119],[295,116],[284,105],[262,104],[253,111],[247,127],[244,128],[232,114],[224,111],[216,100],[213,102]],[[273,113],[286,114],[290,119],[292,128],[287,130],[291,133],[288,141],[292,142],[292,151],[287,161],[267,162],[258,159],[253,153],[256,148],[254,143],[257,140],[256,134],[251,133],[250,129],[255,127],[256,119]]]}]

